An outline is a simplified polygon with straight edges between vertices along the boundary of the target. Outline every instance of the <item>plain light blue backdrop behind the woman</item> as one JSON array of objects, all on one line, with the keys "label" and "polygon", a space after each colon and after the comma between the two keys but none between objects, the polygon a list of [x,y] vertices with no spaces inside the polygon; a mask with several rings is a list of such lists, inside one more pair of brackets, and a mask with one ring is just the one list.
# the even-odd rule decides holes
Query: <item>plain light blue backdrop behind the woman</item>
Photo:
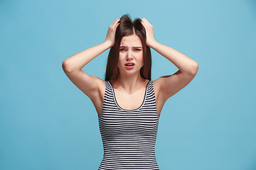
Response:
[{"label": "plain light blue backdrop behind the woman", "polygon": [[[156,161],[161,170],[256,169],[256,1],[0,1],[0,169],[97,169],[97,112],[61,64],[103,42],[129,13],[155,39],[199,64],[166,101]],[[82,70],[104,79],[107,54]],[[178,68],[151,50],[152,80]]]}]

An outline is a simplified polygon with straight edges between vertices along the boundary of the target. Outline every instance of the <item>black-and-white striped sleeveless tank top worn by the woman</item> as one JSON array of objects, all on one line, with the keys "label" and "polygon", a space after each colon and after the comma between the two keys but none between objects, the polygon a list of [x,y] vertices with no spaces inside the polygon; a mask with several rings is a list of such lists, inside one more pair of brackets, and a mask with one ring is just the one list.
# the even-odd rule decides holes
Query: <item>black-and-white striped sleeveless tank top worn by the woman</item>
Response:
[{"label": "black-and-white striped sleeveless tank top worn by the woman", "polygon": [[99,170],[159,169],[155,144],[159,125],[153,81],[146,84],[139,108],[121,108],[114,89],[105,81],[106,90],[99,116],[104,154]]}]

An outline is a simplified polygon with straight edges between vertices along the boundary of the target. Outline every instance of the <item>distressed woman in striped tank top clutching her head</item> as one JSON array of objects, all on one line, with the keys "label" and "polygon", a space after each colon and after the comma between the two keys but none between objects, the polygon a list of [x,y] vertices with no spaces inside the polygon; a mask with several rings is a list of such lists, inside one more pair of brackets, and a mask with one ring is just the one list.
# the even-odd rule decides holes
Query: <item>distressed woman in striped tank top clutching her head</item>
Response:
[{"label": "distressed woman in striped tank top clutching her head", "polygon": [[[178,72],[151,81],[150,47]],[[108,48],[105,81],[82,71]],[[154,147],[161,109],[196,76],[197,62],[157,42],[146,18],[132,22],[128,14],[114,20],[104,42],[64,60],[63,70],[96,108],[104,147],[99,169],[159,169]]]}]

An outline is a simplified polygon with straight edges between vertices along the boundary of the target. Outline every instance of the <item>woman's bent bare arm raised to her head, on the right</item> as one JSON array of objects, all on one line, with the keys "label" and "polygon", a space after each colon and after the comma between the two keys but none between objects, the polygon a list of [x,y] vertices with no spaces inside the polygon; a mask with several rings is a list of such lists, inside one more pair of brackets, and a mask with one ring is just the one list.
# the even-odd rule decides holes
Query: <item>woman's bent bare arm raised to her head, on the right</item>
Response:
[{"label": "woman's bent bare arm raised to her head, on the right", "polygon": [[157,42],[154,39],[154,28],[146,18],[142,18],[142,24],[146,29],[146,44],[178,67],[178,72],[175,74],[154,81],[159,101],[164,104],[169,97],[183,89],[196,76],[198,63],[181,52]]}]

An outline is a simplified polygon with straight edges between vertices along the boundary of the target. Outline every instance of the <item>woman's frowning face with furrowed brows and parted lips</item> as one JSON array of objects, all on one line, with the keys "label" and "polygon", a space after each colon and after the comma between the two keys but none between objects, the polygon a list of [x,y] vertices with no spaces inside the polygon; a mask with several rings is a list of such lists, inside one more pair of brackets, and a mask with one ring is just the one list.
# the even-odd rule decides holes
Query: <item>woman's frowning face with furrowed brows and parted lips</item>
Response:
[{"label": "woman's frowning face with furrowed brows and parted lips", "polygon": [[136,34],[124,36],[119,47],[119,60],[117,62],[119,72],[124,74],[136,73],[140,71],[143,65],[142,41],[139,36]]}]

